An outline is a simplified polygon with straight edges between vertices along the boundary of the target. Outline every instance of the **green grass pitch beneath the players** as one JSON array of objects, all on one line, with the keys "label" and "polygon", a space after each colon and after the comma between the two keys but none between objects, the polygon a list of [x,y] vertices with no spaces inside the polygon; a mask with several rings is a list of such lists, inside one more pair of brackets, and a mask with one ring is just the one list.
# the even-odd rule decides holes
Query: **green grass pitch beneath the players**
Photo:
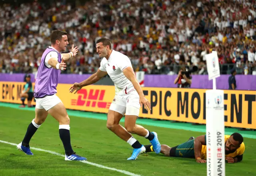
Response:
[{"label": "green grass pitch beneath the players", "polygon": [[[0,107],[0,140],[20,143],[33,118],[32,111]],[[190,136],[203,134],[146,125],[144,127],[156,131],[161,144],[169,146],[181,144]],[[89,162],[143,176],[206,176],[206,164],[198,164],[189,158],[170,158],[151,152],[140,155],[135,161],[127,161],[132,154],[131,146],[110,132],[105,120],[70,116],[70,133],[74,151],[86,157]],[[145,138],[137,135],[134,137],[144,145],[150,144]],[[242,162],[226,164],[226,176],[256,175],[256,140],[244,138],[244,143],[246,149]],[[58,122],[50,115],[33,136],[30,146],[64,154]],[[10,144],[0,143],[0,151],[1,176],[125,175],[82,162],[68,162],[62,156],[42,151],[32,150],[34,156],[27,156]]]}]

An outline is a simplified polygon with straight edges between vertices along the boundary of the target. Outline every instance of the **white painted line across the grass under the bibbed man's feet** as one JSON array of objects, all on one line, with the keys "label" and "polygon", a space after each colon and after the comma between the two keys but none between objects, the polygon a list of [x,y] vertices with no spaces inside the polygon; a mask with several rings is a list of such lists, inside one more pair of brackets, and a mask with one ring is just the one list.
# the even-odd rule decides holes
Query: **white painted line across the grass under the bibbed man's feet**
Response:
[{"label": "white painted line across the grass under the bibbed man's feet", "polygon": [[[13,146],[17,146],[18,145],[18,144],[14,144],[14,143],[11,143],[11,142],[6,142],[6,141],[3,141],[3,140],[0,140],[0,142],[5,143],[5,144],[10,144],[10,145],[13,145]],[[34,147],[30,147],[30,148],[33,149],[33,150],[38,150],[38,151],[47,152],[47,153],[50,153],[50,154],[54,154],[54,155],[65,157],[62,154],[59,154],[57,152],[53,152],[53,151],[50,151],[50,150],[44,150],[44,149],[41,149],[41,148],[34,148]],[[103,166],[103,165],[100,165],[100,164],[96,164],[96,163],[93,163],[93,162],[88,162],[88,161],[80,161],[80,162],[83,162],[85,164],[90,164],[92,166],[96,166],[96,167],[99,167],[99,168],[104,168],[104,169],[108,169],[108,170],[114,170],[116,172],[121,172],[123,174],[130,175],[130,176],[140,176],[140,175],[134,174],[132,172],[128,172],[128,171],[125,171],[125,170],[119,170],[119,169],[116,169],[116,168],[110,168],[110,167]]]}]

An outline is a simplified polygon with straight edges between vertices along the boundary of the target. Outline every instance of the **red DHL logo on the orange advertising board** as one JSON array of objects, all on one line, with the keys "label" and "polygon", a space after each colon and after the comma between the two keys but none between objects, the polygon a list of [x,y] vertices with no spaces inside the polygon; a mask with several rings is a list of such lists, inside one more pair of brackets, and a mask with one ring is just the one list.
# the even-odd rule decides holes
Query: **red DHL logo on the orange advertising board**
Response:
[{"label": "red DHL logo on the orange advertising board", "polygon": [[[89,94],[88,94],[89,91]],[[103,102],[105,90],[99,89],[81,89],[77,92],[80,94],[78,99],[71,99],[71,105],[73,106],[87,106],[96,108],[109,108],[111,102]],[[87,96],[88,95],[88,96]]]}]

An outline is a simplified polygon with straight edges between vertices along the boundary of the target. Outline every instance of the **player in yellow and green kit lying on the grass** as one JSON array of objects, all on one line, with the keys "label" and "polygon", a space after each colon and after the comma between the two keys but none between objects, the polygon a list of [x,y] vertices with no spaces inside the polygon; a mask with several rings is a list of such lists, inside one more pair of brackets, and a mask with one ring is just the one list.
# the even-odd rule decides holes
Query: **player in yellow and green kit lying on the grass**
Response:
[{"label": "player in yellow and green kit lying on the grass", "polygon": [[[240,162],[245,150],[243,137],[239,133],[225,135],[225,154],[228,163]],[[146,153],[154,152],[152,145],[146,145]],[[196,158],[196,162],[206,162],[206,135],[190,137],[187,142],[175,147],[161,145],[161,153],[170,157]]]}]

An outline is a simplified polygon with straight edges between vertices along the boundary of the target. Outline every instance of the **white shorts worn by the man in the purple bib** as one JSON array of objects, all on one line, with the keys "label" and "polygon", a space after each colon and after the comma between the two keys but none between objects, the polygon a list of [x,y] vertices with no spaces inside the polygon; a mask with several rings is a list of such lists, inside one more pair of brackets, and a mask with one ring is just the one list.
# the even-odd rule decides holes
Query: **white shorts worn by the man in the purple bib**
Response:
[{"label": "white shorts worn by the man in the purple bib", "polygon": [[54,107],[56,104],[62,102],[56,94],[54,95],[46,95],[43,98],[35,98],[36,100],[36,108],[45,109],[48,111],[50,108]]}]

